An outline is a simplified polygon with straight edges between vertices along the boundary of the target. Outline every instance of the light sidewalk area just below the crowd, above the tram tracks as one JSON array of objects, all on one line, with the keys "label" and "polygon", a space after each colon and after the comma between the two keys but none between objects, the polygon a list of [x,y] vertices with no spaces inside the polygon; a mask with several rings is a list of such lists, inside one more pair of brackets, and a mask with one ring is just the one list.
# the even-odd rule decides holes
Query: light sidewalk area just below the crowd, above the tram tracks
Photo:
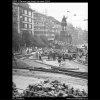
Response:
[{"label": "light sidewalk area just below the crowd, above the tram tracks", "polygon": [[[25,63],[28,63],[29,65],[32,65],[32,66],[34,66],[34,62],[36,62],[36,63],[42,64],[42,65],[39,64],[41,67],[43,67],[43,66],[59,67],[59,63],[58,63],[57,60],[55,60],[55,61],[49,60],[48,61],[47,59],[43,59],[43,61],[40,61],[40,60],[38,60],[34,57],[34,54],[32,56],[28,57],[28,58],[22,57],[20,60],[22,60]],[[74,61],[69,61],[69,60],[62,62],[62,66],[60,68],[65,68],[66,70],[68,69],[68,70],[77,71],[77,72],[88,72],[87,66],[84,66],[84,65],[81,65],[81,64],[78,64]]]}]

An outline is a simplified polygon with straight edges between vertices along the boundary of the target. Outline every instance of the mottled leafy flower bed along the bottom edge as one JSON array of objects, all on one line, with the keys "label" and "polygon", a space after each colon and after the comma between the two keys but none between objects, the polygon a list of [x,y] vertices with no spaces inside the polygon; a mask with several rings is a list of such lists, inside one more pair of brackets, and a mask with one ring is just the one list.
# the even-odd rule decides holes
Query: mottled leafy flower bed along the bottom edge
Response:
[{"label": "mottled leafy flower bed along the bottom edge", "polygon": [[[14,83],[13,83],[14,84]],[[17,97],[88,97],[85,90],[74,89],[57,80],[45,80],[39,84],[29,85],[23,93],[18,93],[13,85],[13,98]]]}]

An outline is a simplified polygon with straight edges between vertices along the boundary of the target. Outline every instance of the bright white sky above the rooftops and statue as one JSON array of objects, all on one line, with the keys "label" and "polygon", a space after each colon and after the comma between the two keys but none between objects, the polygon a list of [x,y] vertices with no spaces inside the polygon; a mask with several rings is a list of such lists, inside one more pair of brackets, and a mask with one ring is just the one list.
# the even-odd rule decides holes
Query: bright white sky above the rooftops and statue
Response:
[{"label": "bright white sky above the rooftops and statue", "polygon": [[[63,16],[74,27],[88,30],[88,3],[28,3],[33,10],[52,16],[61,22]],[[69,11],[69,12],[68,12]],[[76,16],[74,16],[76,15]]]}]

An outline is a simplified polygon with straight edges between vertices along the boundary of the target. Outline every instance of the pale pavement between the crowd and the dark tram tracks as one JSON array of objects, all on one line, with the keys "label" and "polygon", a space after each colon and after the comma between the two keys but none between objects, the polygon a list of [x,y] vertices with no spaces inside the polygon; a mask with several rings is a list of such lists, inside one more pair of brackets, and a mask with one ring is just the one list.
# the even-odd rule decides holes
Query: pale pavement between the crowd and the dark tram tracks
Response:
[{"label": "pale pavement between the crowd and the dark tram tracks", "polygon": [[[47,65],[59,67],[59,63],[57,60],[48,61],[47,57],[43,57],[43,60],[40,61],[40,60],[35,58],[34,54],[28,54],[28,55],[22,56],[22,57],[20,57],[20,60],[25,62],[26,64],[28,64],[30,66],[33,66],[33,67],[45,67],[45,68],[47,68]],[[61,67],[66,68],[66,69],[73,69],[74,71],[78,71],[78,72],[88,72],[88,66],[76,63],[74,61],[69,61],[69,60],[62,62]]]}]

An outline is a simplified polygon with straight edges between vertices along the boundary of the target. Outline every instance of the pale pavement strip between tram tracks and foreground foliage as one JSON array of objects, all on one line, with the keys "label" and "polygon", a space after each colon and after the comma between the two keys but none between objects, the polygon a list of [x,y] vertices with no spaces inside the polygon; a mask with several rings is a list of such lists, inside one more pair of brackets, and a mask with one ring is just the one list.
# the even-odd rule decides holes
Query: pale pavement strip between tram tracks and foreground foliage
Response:
[{"label": "pale pavement strip between tram tracks and foreground foliage", "polygon": [[86,79],[39,71],[30,72],[19,69],[17,69],[16,72],[13,71],[13,82],[19,89],[26,89],[29,84],[39,84],[44,80],[58,80],[61,83],[65,83],[71,87],[74,87],[75,89],[84,89],[85,91],[88,91]]}]

